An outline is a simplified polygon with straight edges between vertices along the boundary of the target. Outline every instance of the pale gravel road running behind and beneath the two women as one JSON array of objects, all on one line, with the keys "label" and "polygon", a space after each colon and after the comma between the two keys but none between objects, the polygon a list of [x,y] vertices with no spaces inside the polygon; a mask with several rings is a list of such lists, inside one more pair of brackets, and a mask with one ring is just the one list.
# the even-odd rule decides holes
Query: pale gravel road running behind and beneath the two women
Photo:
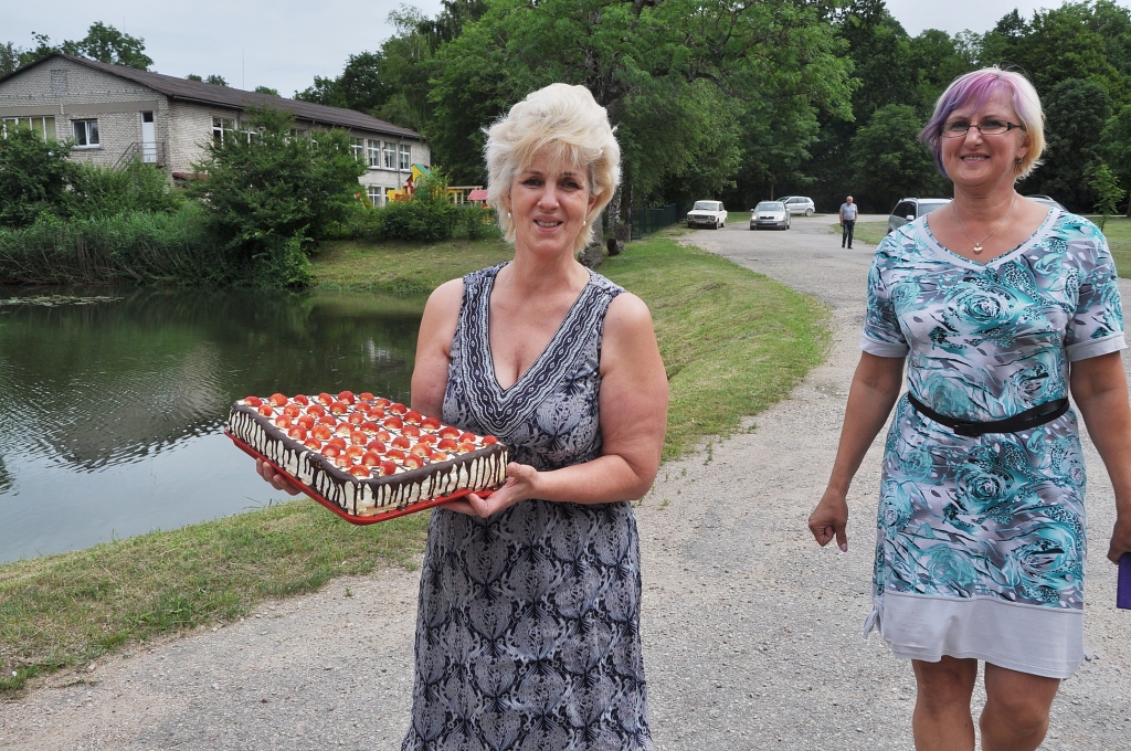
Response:
[{"label": "pale gravel road running behind and beneath the two women", "polygon": [[[910,668],[875,635],[861,638],[879,446],[849,497],[849,552],[818,549],[805,528],[858,357],[872,251],[861,241],[840,249],[831,222],[684,235],[826,301],[835,334],[828,361],[788,400],[749,432],[665,464],[637,509],[651,726],[664,751],[912,748]],[[1131,285],[1123,293],[1131,299]],[[1112,491],[1086,448],[1089,662],[1064,683],[1043,748],[1128,749],[1131,613],[1113,605],[1115,567],[1102,555]],[[397,568],[337,579],[240,622],[52,676],[0,705],[0,749],[399,749],[417,584]]]}]

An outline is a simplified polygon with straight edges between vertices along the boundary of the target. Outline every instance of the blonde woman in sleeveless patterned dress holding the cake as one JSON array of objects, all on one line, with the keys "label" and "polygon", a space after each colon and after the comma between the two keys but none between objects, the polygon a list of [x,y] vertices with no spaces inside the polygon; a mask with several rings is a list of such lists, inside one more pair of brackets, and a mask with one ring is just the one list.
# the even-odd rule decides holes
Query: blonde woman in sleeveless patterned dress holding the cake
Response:
[{"label": "blonde woman in sleeveless patterned dress holding the cake", "polygon": [[507,484],[432,513],[404,749],[651,749],[630,501],[651,486],[667,379],[648,308],[575,254],[620,178],[581,86],[487,131],[513,260],[439,287],[413,407],[493,434]]}]

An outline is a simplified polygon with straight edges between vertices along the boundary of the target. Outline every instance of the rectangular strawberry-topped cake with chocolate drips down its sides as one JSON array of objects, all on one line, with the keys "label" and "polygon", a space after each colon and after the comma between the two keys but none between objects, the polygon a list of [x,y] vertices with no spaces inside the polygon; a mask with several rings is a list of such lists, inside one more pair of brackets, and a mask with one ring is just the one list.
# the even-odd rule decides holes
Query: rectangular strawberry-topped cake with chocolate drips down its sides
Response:
[{"label": "rectangular strawberry-topped cake with chocolate drips down its sides", "polygon": [[[507,447],[372,394],[249,396],[228,434],[348,516],[499,487]],[[331,508],[333,508],[331,507]]]}]

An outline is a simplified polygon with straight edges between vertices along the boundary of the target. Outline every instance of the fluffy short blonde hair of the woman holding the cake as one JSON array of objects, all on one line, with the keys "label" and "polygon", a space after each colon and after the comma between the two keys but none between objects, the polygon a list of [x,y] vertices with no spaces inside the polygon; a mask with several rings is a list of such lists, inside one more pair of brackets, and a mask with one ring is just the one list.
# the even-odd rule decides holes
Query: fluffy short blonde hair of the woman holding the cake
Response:
[{"label": "fluffy short blonde hair of the woman holding the cake", "polygon": [[608,113],[589,89],[568,84],[539,88],[485,131],[487,202],[499,216],[507,242],[515,242],[515,223],[504,204],[511,183],[530,165],[535,154],[549,147],[553,164],[584,167],[589,175],[589,192],[597,200],[573,242],[573,252],[585,248],[593,239],[594,219],[601,216],[621,181],[621,147],[613,136]]}]

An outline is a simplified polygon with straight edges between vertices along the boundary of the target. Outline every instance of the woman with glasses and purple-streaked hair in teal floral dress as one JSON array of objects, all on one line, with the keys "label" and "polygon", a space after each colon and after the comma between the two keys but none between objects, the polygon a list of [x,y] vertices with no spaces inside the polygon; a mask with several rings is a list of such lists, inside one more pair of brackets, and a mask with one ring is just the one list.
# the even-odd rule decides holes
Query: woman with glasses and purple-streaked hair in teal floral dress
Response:
[{"label": "woman with glasses and purple-streaked hair in teal floral dress", "polygon": [[916,749],[974,749],[982,661],[982,748],[1030,750],[1083,658],[1085,466],[1070,395],[1115,490],[1107,558],[1131,552],[1119,284],[1095,225],[1015,189],[1044,147],[1025,77],[961,76],[921,139],[955,199],[877,248],[840,447],[809,526],[847,551],[848,486],[895,407],[865,632],[912,661]]}]

